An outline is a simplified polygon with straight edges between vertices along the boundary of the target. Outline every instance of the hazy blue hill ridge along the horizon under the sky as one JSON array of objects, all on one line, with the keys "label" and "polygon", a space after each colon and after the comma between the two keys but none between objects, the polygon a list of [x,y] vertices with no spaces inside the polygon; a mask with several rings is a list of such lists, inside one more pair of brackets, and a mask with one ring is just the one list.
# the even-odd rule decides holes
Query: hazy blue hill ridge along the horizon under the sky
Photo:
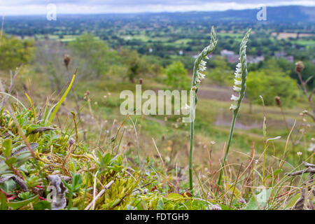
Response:
[{"label": "hazy blue hill ridge along the horizon under the sky", "polygon": [[[172,20],[208,20],[213,21],[231,21],[235,22],[258,22],[256,15],[259,9],[245,9],[245,10],[225,10],[225,11],[192,11],[192,12],[176,12],[176,13],[106,13],[106,14],[80,14],[80,15],[66,15],[58,14],[58,18],[76,18],[82,20],[89,20],[93,18],[102,18],[104,20],[111,20],[115,18],[120,19],[141,19],[147,18],[150,15],[151,19],[170,19]],[[29,16],[6,16],[10,18],[29,18],[36,20],[43,18],[45,15],[29,15]],[[315,22],[315,7],[307,6],[276,6],[267,7],[267,22]]]}]

